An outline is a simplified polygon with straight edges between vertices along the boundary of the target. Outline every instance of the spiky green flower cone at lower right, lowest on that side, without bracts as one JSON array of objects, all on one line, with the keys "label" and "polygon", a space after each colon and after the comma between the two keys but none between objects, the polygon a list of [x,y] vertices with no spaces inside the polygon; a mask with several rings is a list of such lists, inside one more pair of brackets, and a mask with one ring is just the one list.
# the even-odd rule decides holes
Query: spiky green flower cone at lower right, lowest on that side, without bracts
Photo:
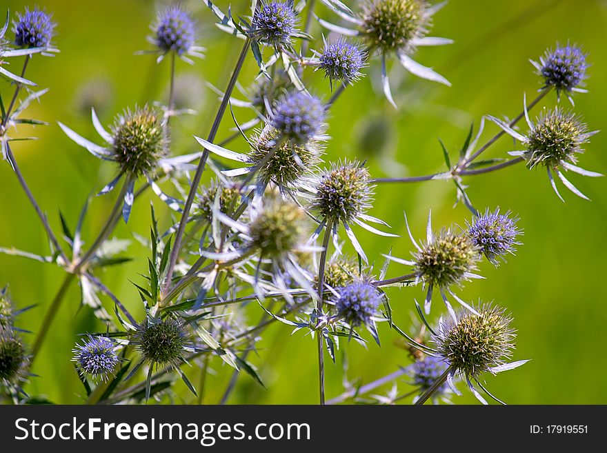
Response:
[{"label": "spiky green flower cone at lower right, lowest on that side, without bracts", "polygon": [[450,367],[472,378],[506,363],[515,348],[512,319],[503,308],[482,305],[476,310],[479,314],[460,312],[457,321],[441,325],[435,337],[437,350]]}]

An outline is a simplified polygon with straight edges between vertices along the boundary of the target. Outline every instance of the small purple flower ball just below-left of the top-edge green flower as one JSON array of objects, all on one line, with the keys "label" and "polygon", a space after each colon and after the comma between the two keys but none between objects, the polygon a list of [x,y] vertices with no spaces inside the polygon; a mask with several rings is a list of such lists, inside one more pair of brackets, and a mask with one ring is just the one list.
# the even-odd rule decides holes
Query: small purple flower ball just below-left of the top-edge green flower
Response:
[{"label": "small purple flower ball just below-left of the top-edge green flower", "polygon": [[351,85],[360,78],[363,66],[364,52],[346,41],[326,44],[319,55],[319,67],[331,84]]}]

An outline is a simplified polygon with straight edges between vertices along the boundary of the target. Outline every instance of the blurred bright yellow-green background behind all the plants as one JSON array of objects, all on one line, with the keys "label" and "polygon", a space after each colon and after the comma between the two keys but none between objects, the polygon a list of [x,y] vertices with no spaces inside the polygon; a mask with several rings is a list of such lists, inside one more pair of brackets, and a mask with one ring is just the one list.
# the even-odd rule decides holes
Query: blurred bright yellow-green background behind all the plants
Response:
[{"label": "blurred bright yellow-green background behind all the plants", "polygon": [[[214,17],[201,1],[183,2],[199,22],[198,43],[205,46],[206,59],[195,66],[177,63],[180,85],[188,106],[197,108],[196,117],[175,121],[173,141],[179,154],[199,148],[192,134],[205,136],[219,101],[205,87],[209,81],[224,88],[241,41],[222,34],[213,25]],[[227,9],[227,1],[217,4]],[[247,14],[248,1],[231,1],[232,12]],[[351,3],[351,2],[350,2]],[[88,194],[97,192],[114,172],[112,165],[99,163],[85,150],[72,143],[59,129],[61,121],[86,137],[97,137],[90,122],[94,105],[103,123],[127,106],[152,101],[166,101],[167,62],[155,63],[150,55],[135,56],[137,50],[149,49],[146,35],[158,6],[146,0],[38,0],[35,4],[53,12],[58,23],[54,42],[61,49],[55,58],[34,57],[28,69],[30,79],[50,91],[40,103],[28,110],[29,117],[50,123],[49,127],[20,129],[21,135],[35,135],[38,141],[14,143],[14,154],[30,188],[50,216],[55,231],[60,231],[58,210],[74,225]],[[26,6],[23,0],[2,2],[0,14],[9,8],[14,12]],[[326,8],[317,11],[335,21]],[[592,63],[587,88],[589,94],[575,96],[576,111],[582,114],[591,130],[605,129],[604,106],[607,105],[607,2],[591,0],[484,0],[451,1],[435,16],[430,35],[455,40],[452,46],[421,48],[416,60],[432,66],[451,82],[447,88],[411,77],[400,67],[393,67],[390,81],[399,110],[388,105],[379,90],[377,60],[367,68],[368,77],[348,88],[331,110],[328,159],[369,159],[374,177],[428,174],[443,170],[439,147],[441,138],[455,153],[463,143],[470,123],[484,114],[514,117],[521,110],[523,93],[533,97],[540,81],[528,59],[537,59],[557,41],[579,43]],[[312,34],[320,36],[315,23]],[[9,33],[12,36],[12,33]],[[312,44],[319,48],[319,44]],[[21,63],[14,59],[12,70]],[[248,85],[256,73],[252,56],[246,61],[240,81]],[[328,99],[328,83],[321,74],[307,70],[304,76],[312,90]],[[0,81],[3,95],[10,91]],[[12,91],[10,91],[12,92]],[[241,96],[239,96],[241,97]],[[556,103],[550,94],[541,106]],[[561,103],[568,107],[565,100]],[[534,110],[536,114],[538,110]],[[240,121],[248,112],[235,110]],[[231,132],[227,114],[219,138]],[[497,132],[488,124],[483,139]],[[246,150],[243,141],[232,143],[232,149]],[[593,137],[580,165],[590,170],[607,172],[607,134]],[[488,157],[503,157],[513,149],[509,139],[501,139],[487,152]],[[516,166],[501,172],[470,177],[468,193],[479,209],[501,207],[521,218],[524,245],[517,256],[499,268],[484,262],[481,274],[486,280],[467,283],[462,296],[469,300],[495,300],[505,305],[515,318],[518,330],[515,359],[533,359],[514,372],[488,376],[487,384],[508,403],[607,403],[607,363],[601,359],[601,345],[607,344],[607,304],[603,279],[607,252],[605,221],[607,219],[607,179],[572,176],[573,182],[593,200],[584,201],[566,189],[557,199],[546,174]],[[560,186],[559,186],[560,187]],[[6,163],[0,165],[0,246],[14,246],[46,254],[46,236],[25,194]],[[145,199],[145,201],[144,201]],[[149,231],[149,200],[157,206],[161,225],[168,227],[170,217],[158,199],[143,197],[135,203],[128,228],[123,223],[116,235],[130,238],[131,231],[143,236]],[[457,223],[464,225],[470,214],[462,205],[453,207],[455,192],[446,182],[409,185],[382,185],[377,188],[377,201],[370,214],[385,219],[399,239],[379,238],[357,229],[357,235],[371,259],[381,266],[381,253],[393,247],[396,256],[408,257],[412,248],[404,229],[406,211],[414,235],[425,230],[428,209],[432,208],[435,226]],[[101,228],[113,198],[94,198],[83,228],[91,241]],[[345,236],[345,235],[344,235]],[[147,250],[137,241],[130,247],[134,260],[119,268],[110,268],[99,276],[130,309],[142,316],[139,296],[128,279],[147,272]],[[388,276],[406,272],[392,264]],[[52,265],[0,255],[0,284],[10,284],[12,298],[18,306],[32,303],[37,308],[23,314],[19,326],[36,331],[50,299],[57,292],[63,272]],[[395,321],[405,330],[411,325],[413,299],[423,299],[421,288],[391,289]],[[109,303],[108,303],[109,305]],[[79,293],[72,285],[69,297],[52,325],[48,341],[32,370],[39,377],[30,381],[26,390],[43,394],[56,403],[79,403],[82,387],[70,363],[71,349],[77,334],[100,329],[90,310],[79,307]],[[435,299],[432,316],[443,306]],[[253,310],[257,319],[260,310]],[[377,379],[410,363],[406,351],[399,347],[397,335],[383,324],[380,328],[382,348],[369,343],[368,349],[355,342],[344,344],[348,354],[348,377],[364,382]],[[317,352],[310,336],[295,334],[285,325],[274,325],[259,343],[259,354],[251,356],[268,390],[249,376],[239,377],[230,403],[316,403]],[[32,340],[33,336],[27,336]],[[343,359],[327,367],[327,395],[342,390]],[[225,389],[230,370],[215,358],[211,362],[205,401],[217,403]],[[192,381],[198,381],[199,368],[186,370]],[[461,385],[463,387],[463,385]],[[406,390],[406,385],[402,385]],[[179,383],[176,403],[191,402],[192,396]],[[378,392],[389,390],[389,386]],[[475,403],[465,392],[455,403]]]}]

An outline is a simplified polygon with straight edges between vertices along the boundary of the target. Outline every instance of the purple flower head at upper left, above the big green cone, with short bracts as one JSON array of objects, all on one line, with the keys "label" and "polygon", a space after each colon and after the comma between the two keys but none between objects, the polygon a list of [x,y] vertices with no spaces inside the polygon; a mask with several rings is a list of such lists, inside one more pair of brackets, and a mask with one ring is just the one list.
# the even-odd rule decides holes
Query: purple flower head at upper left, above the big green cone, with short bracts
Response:
[{"label": "purple flower head at upper left, above the big green cone, with short bracts", "polygon": [[148,41],[156,46],[157,51],[155,52],[159,52],[158,62],[162,61],[170,52],[175,52],[177,57],[190,64],[194,64],[194,62],[188,56],[204,57],[205,49],[195,46],[196,23],[190,12],[183,9],[181,5],[159,10],[151,29],[152,36],[148,38]]}]

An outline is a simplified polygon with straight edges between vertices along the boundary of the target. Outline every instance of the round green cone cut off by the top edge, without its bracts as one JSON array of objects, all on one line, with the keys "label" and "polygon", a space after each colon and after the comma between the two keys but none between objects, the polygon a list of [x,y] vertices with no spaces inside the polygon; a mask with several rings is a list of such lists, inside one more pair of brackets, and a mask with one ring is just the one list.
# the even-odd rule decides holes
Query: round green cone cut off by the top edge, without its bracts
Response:
[{"label": "round green cone cut off by the top edge, without its bracts", "polygon": [[427,32],[426,8],[425,0],[367,0],[361,16],[367,46],[383,54],[409,52],[412,40]]}]

